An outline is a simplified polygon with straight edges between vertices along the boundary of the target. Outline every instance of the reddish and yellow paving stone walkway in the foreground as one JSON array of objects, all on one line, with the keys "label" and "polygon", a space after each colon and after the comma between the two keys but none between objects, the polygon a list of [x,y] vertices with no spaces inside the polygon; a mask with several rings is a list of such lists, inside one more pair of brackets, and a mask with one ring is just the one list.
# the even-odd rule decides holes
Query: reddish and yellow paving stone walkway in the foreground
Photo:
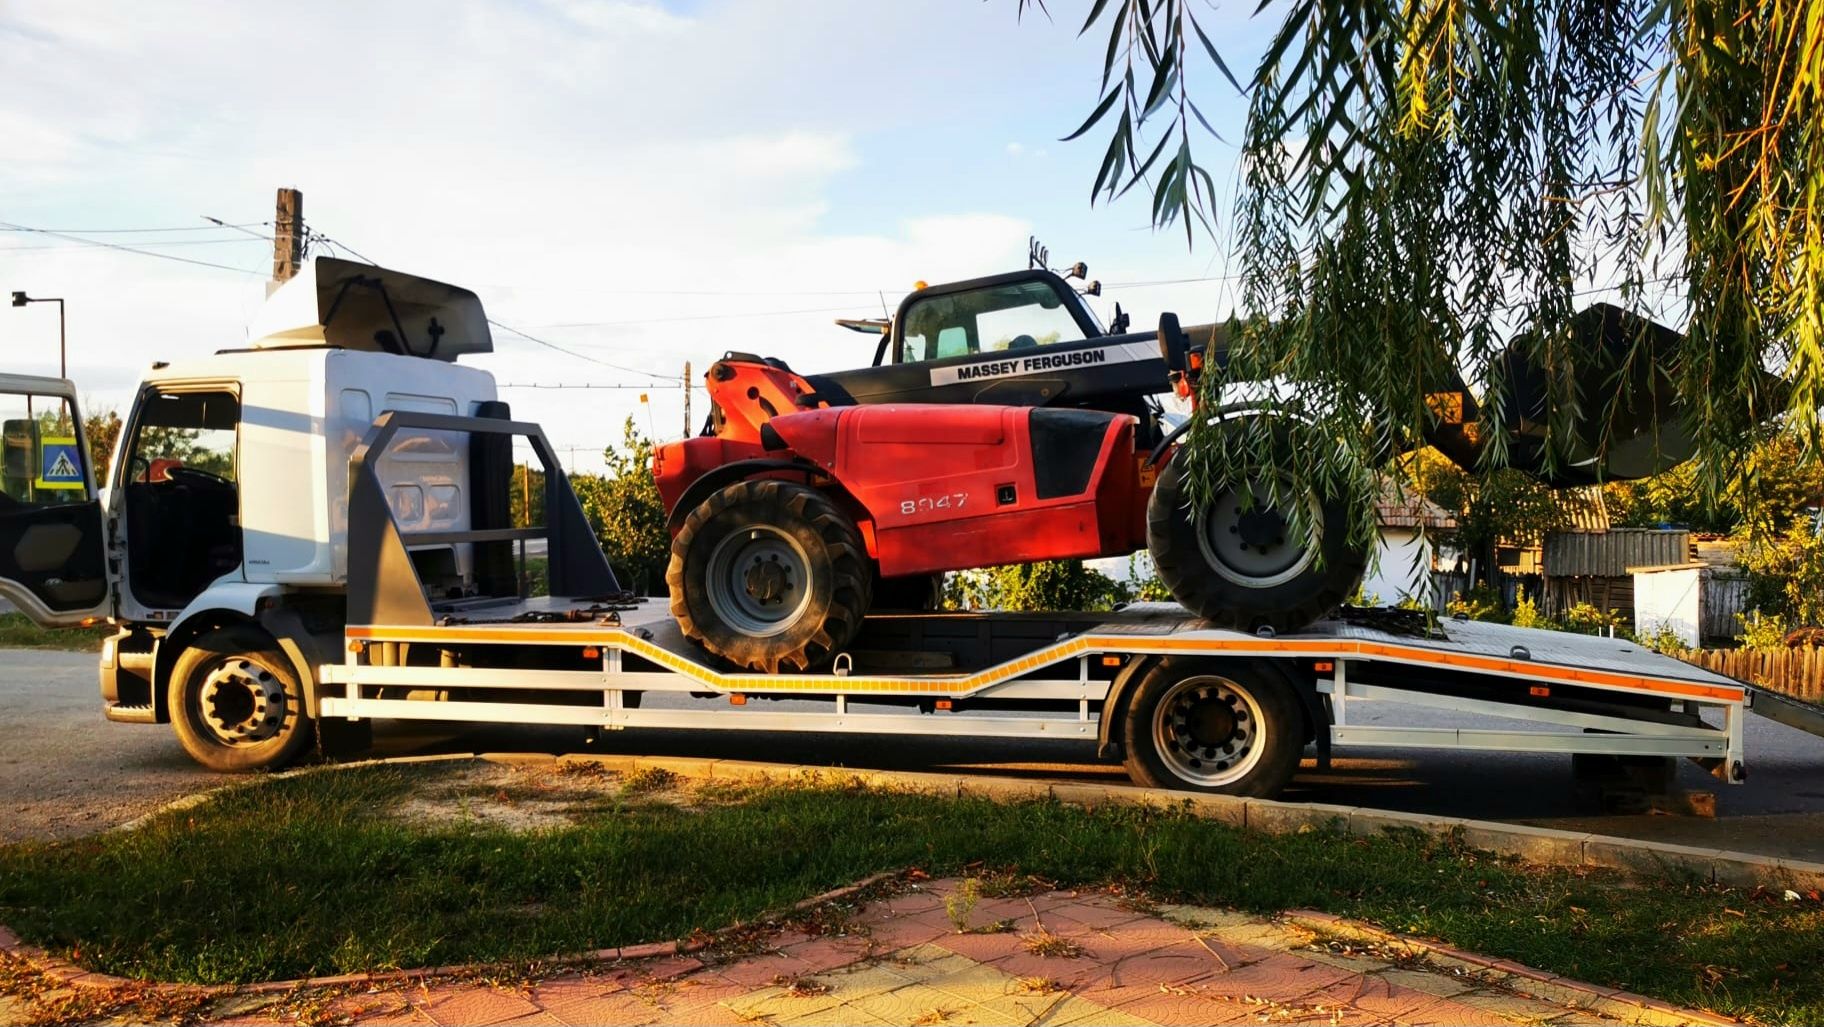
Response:
[{"label": "reddish and yellow paving stone walkway in the foreground", "polygon": [[[1342,943],[1310,921],[1102,894],[976,897],[928,881],[823,936],[534,983],[441,981],[232,1000],[219,1023],[1715,1023],[1499,961]],[[967,930],[958,930],[958,921]],[[1317,925],[1322,927],[1321,923]],[[1459,954],[1461,956],[1461,954]],[[1523,992],[1530,992],[1523,994]]]}]

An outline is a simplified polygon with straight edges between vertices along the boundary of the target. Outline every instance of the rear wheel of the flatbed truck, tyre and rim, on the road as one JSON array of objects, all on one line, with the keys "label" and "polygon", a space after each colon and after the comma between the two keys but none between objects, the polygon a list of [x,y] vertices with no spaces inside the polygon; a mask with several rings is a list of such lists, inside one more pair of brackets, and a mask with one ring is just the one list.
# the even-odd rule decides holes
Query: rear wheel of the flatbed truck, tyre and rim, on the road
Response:
[{"label": "rear wheel of the flatbed truck, tyre and rim, on the road", "polygon": [[1266,799],[1304,753],[1299,697],[1249,662],[1160,660],[1140,679],[1122,731],[1129,777],[1151,788]]}]

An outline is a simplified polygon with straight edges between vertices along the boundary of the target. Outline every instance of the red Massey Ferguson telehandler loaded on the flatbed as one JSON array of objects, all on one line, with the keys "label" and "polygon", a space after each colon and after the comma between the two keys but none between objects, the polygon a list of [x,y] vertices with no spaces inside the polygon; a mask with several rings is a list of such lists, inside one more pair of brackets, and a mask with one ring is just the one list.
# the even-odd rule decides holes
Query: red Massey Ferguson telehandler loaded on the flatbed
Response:
[{"label": "red Massey Ferguson telehandler loaded on the flatbed", "polygon": [[[801,376],[726,354],[706,376],[704,432],[653,460],[684,633],[742,668],[806,669],[848,646],[874,607],[928,609],[945,571],[1140,549],[1217,628],[1284,633],[1333,609],[1368,560],[1346,538],[1341,498],[1306,498],[1306,534],[1259,482],[1253,496],[1231,489],[1207,505],[1187,493],[1178,441],[1191,420],[1173,425],[1156,396],[1195,403],[1206,361],[1226,361],[1226,328],[1186,330],[1164,314],[1156,332],[1124,334],[1116,319],[1105,332],[1063,275],[1031,268],[921,286],[890,321],[843,321],[881,334],[874,367]],[[1592,306],[1578,327],[1616,363],[1642,325]],[[1674,337],[1647,328],[1654,343]],[[1687,456],[1667,410],[1640,410],[1605,425],[1620,443],[1600,465],[1592,441],[1547,462],[1539,376],[1508,354],[1503,425],[1516,465],[1574,485]],[[1474,467],[1468,389],[1459,379],[1434,407],[1445,416],[1426,441]],[[1275,416],[1213,414],[1222,425]]]}]

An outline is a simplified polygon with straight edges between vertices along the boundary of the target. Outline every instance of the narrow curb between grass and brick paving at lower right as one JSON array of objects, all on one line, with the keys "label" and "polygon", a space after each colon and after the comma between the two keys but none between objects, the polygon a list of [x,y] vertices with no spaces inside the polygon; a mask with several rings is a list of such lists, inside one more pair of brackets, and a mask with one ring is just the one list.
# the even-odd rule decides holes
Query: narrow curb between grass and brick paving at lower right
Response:
[{"label": "narrow curb between grass and brick paving at lower right", "polygon": [[1596,1012],[1623,1023],[1656,1023],[1667,1027],[1684,1023],[1740,1023],[1740,1020],[1729,1020],[1727,1016],[1702,1012],[1696,1009],[1684,1009],[1643,994],[1574,981],[1570,978],[1536,970],[1512,960],[1490,960],[1488,956],[1477,956],[1476,952],[1465,952],[1463,949],[1454,949],[1437,941],[1421,941],[1404,934],[1394,934],[1390,930],[1381,930],[1379,927],[1370,927],[1366,923],[1344,919],[1328,912],[1290,910],[1280,914],[1280,919],[1319,936],[1397,949],[1406,956],[1423,958],[1426,963],[1435,967],[1445,967],[1529,998],[1554,1001],[1567,1009]]}]

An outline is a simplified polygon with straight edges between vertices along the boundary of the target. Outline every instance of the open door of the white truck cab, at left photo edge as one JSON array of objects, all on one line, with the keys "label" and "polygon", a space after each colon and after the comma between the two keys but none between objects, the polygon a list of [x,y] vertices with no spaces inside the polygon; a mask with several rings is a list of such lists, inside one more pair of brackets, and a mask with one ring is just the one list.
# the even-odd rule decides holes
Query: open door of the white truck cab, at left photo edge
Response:
[{"label": "open door of the white truck cab, at left photo edge", "polygon": [[95,469],[62,378],[0,374],[0,600],[46,628],[109,613]]}]

